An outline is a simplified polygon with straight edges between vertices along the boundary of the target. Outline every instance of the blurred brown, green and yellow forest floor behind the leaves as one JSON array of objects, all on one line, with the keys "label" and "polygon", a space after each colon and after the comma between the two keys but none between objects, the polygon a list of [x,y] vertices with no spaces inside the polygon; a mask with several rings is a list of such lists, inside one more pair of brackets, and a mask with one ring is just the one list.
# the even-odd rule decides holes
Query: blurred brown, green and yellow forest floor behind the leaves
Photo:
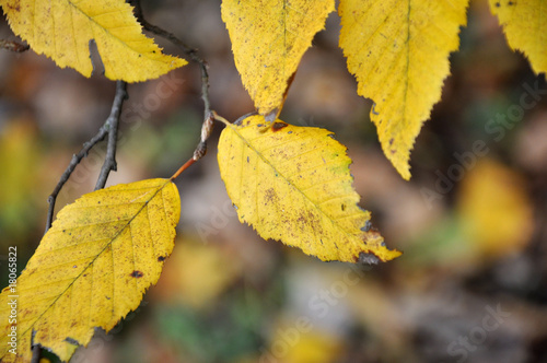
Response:
[{"label": "blurred brown, green and yellow forest floor behind the leaves", "polygon": [[[253,105],[234,67],[219,0],[148,1],[144,15],[199,48],[212,107]],[[410,182],[384,157],[338,48],[339,19],[314,39],[281,119],[336,132],[388,264],[321,262],[237,221],[208,155],[177,182],[182,220],[156,286],[72,362],[547,362],[547,95],[512,52],[487,1],[472,1],[452,75],[411,154]],[[5,21],[0,37],[15,39]],[[166,52],[177,49],[156,40]],[[199,141],[196,65],[130,84],[108,185],[168,177]],[[47,197],[106,119],[115,83],[0,51],[0,283],[38,245]],[[523,102],[525,99],[526,102]],[[58,208],[93,190],[105,153],[85,159]]]}]

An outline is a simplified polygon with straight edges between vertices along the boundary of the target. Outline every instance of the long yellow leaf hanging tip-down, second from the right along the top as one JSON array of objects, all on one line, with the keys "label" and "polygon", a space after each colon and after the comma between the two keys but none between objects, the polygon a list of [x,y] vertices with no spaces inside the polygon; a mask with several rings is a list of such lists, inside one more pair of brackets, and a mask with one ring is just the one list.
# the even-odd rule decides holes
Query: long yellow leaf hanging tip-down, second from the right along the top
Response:
[{"label": "long yellow leaf hanging tip-down, second from the right along the top", "polygon": [[340,47],[386,157],[410,178],[410,150],[450,74],[468,0],[340,0]]}]

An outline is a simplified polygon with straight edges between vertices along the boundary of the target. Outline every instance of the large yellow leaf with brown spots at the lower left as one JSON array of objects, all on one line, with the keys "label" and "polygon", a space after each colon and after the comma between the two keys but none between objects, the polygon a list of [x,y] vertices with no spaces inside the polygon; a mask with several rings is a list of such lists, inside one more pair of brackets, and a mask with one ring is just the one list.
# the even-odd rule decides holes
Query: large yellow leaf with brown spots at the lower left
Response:
[{"label": "large yellow leaf with brown spots at the lower left", "polygon": [[[158,281],[179,213],[178,191],[166,179],[117,185],[65,207],[0,295],[0,316],[16,319],[2,320],[0,360],[28,362],[33,342],[68,361],[95,327],[114,328]],[[16,354],[9,351],[13,326]]]}]

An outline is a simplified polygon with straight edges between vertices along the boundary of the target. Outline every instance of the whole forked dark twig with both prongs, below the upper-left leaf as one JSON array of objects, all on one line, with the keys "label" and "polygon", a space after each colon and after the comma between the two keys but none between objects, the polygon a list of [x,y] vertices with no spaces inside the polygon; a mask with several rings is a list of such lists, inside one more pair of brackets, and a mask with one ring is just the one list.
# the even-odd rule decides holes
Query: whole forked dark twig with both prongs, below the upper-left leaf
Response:
[{"label": "whole forked dark twig with both prongs, below the upper-left leaf", "polygon": [[[59,183],[55,187],[54,191],[47,199],[47,202],[49,203],[49,208],[47,211],[47,220],[46,220],[46,232],[51,227],[51,222],[54,219],[54,211],[55,211],[55,202],[57,200],[57,196],[61,191],[62,187],[65,184],[68,182],[70,178],[70,175],[74,171],[78,164],[88,156],[88,153],[90,152],[91,149],[93,149],[94,145],[96,145],[98,142],[104,140],[106,134],[108,134],[108,147],[106,151],[106,160],[103,165],[103,168],[101,169],[101,175],[97,180],[97,185],[95,186],[95,189],[97,186],[100,186],[100,182],[104,183],[106,182],[106,177],[108,177],[108,173],[112,169],[116,169],[116,160],[115,160],[115,153],[116,153],[116,138],[117,138],[117,129],[118,129],[118,120],[119,120],[119,113],[121,109],[121,104],[124,103],[124,99],[127,97],[127,91],[126,91],[126,82],[118,81],[116,83],[116,96],[114,97],[114,103],[112,105],[112,112],[110,116],[106,119],[104,125],[101,127],[98,130],[97,134],[95,134],[90,141],[85,142],[83,144],[82,150],[78,154],[72,155],[72,160],[70,161],[69,166],[62,173]],[[112,131],[112,132],[110,132]],[[102,182],[104,178],[105,182]]]}]

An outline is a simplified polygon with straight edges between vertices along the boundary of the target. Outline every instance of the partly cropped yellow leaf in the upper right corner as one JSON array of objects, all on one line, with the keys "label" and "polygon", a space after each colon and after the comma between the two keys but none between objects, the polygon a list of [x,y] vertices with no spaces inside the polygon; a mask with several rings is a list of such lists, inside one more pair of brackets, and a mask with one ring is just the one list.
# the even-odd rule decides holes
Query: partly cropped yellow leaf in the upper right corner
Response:
[{"label": "partly cropped yellow leaf in the upper right corner", "polygon": [[528,57],[536,73],[547,72],[547,4],[545,0],[489,0],[509,46]]}]

